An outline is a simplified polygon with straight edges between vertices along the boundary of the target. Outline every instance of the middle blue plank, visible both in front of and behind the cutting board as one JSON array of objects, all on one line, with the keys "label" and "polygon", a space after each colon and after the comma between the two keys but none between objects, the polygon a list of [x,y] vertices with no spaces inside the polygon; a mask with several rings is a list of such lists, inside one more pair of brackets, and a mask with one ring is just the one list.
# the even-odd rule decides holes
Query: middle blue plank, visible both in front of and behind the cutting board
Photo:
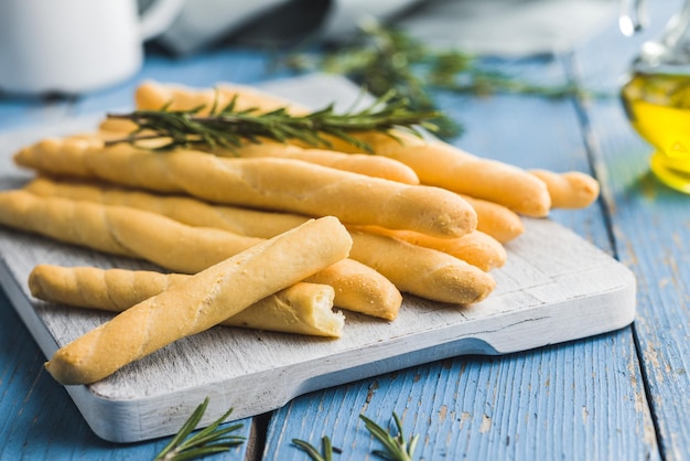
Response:
[{"label": "middle blue plank, visible both in front of and behind the cutting board", "polygon": [[[540,75],[562,82],[561,64],[542,64]],[[457,144],[470,152],[524,168],[592,170],[571,101],[441,103],[464,122]],[[551,217],[613,254],[603,205]],[[379,447],[358,415],[386,422],[392,411],[421,435],[421,459],[660,458],[630,329],[504,357],[456,357],[298,398],[272,418],[265,457],[302,459],[292,438],[316,444],[327,435],[344,450],[338,459],[374,459]]]}]

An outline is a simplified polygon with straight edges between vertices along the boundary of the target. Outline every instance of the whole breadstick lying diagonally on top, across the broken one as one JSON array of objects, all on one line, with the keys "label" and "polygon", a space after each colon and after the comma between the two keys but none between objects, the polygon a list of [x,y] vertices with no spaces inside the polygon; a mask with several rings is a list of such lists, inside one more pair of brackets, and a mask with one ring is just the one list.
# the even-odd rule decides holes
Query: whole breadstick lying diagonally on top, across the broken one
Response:
[{"label": "whole breadstick lying diagonally on top, across the broken one", "polygon": [[64,385],[104,379],[345,258],[351,244],[336,218],[310,221],[126,310],[61,347],[45,366]]}]

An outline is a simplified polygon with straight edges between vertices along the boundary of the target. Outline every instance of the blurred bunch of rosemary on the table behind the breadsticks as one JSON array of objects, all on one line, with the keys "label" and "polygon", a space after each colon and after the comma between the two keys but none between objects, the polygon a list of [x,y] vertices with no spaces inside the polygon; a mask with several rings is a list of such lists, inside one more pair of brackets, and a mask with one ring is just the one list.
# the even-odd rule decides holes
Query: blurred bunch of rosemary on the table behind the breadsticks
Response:
[{"label": "blurred bunch of rosemary on the table behind the breadsticks", "polygon": [[[434,92],[490,95],[515,93],[549,98],[594,95],[574,84],[537,85],[489,68],[482,60],[460,50],[435,50],[403,32],[370,20],[352,40],[319,53],[293,53],[279,64],[295,72],[344,75],[378,96],[390,89],[409,100],[413,110],[436,110]],[[439,112],[431,120],[436,136],[452,139],[462,126]]]}]

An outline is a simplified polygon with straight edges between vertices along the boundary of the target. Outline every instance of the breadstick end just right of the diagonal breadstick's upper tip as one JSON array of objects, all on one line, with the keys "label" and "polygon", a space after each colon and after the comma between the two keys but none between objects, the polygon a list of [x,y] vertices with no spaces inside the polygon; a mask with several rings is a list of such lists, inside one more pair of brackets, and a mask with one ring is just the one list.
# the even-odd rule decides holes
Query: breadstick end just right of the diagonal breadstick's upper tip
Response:
[{"label": "breadstick end just right of the diagonal breadstick's upper tip", "polygon": [[406,291],[434,301],[472,304],[496,282],[483,270],[441,251],[382,235],[351,229],[351,257],[373,267]]}]

